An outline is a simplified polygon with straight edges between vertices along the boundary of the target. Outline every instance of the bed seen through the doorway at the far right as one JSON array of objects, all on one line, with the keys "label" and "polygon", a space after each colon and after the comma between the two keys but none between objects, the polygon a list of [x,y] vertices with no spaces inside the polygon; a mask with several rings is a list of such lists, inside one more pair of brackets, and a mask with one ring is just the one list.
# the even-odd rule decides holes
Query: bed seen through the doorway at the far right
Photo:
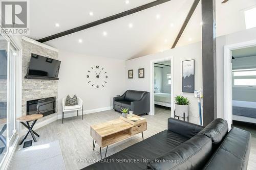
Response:
[{"label": "bed seen through the doorway at the far right", "polygon": [[233,114],[256,118],[256,102],[233,100]]}]

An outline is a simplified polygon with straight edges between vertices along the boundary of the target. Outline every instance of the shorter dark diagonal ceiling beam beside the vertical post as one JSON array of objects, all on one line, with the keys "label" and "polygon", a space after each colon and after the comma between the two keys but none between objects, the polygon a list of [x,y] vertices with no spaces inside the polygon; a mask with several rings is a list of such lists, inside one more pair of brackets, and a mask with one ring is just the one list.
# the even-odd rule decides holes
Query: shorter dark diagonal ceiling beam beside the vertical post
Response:
[{"label": "shorter dark diagonal ceiling beam beside the vertical post", "polygon": [[190,8],[190,10],[187,14],[187,17],[186,17],[185,21],[183,22],[183,25],[180,29],[180,32],[179,32],[178,36],[176,37],[176,39],[174,41],[174,44],[173,44],[172,48],[175,48],[175,46],[177,45],[182,33],[184,32],[184,30],[187,26],[187,23],[189,22],[189,20],[190,20],[191,16],[193,15],[194,11],[196,10],[197,5],[198,5],[199,2],[200,2],[200,0],[195,0],[193,5],[191,6],[191,8]]}]

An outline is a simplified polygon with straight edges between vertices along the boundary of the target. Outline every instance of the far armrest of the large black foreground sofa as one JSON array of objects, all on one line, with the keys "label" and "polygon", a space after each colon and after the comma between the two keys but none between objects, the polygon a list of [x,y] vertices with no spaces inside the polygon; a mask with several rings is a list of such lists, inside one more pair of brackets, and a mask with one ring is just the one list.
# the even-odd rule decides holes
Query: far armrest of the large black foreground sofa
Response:
[{"label": "far armrest of the large black foreground sofa", "polygon": [[203,126],[197,124],[184,122],[176,118],[168,118],[168,130],[186,136],[188,138],[195,136],[203,128]]}]

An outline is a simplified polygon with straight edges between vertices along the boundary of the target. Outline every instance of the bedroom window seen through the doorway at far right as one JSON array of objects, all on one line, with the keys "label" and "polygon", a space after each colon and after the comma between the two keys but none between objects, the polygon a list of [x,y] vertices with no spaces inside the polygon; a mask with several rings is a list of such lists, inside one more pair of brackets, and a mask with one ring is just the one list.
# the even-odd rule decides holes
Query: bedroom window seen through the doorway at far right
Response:
[{"label": "bedroom window seen through the doorway at far right", "polygon": [[256,87],[256,69],[233,70],[234,87]]}]

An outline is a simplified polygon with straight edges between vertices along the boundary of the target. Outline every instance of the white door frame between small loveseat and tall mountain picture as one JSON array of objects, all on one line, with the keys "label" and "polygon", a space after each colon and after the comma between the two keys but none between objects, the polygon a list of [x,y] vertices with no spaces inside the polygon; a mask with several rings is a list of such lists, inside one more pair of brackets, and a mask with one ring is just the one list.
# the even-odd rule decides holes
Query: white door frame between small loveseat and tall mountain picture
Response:
[{"label": "white door frame between small loveseat and tall mountain picture", "polygon": [[173,56],[155,59],[150,61],[150,115],[155,115],[155,96],[154,96],[154,63],[170,60],[170,76],[172,84],[170,85],[170,99],[171,99],[171,117],[174,117],[174,67]]}]

